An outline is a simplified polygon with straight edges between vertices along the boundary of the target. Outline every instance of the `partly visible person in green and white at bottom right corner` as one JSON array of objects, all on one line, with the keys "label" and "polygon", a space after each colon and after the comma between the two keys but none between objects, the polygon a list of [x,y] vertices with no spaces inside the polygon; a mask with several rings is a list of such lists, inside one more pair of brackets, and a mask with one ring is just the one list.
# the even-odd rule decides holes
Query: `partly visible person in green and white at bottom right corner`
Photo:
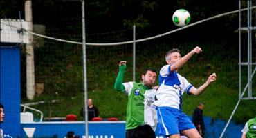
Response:
[{"label": "partly visible person in green and white at bottom right corner", "polygon": [[244,129],[241,130],[243,134],[241,135],[242,138],[255,138],[256,137],[256,117],[250,119],[246,122]]}]

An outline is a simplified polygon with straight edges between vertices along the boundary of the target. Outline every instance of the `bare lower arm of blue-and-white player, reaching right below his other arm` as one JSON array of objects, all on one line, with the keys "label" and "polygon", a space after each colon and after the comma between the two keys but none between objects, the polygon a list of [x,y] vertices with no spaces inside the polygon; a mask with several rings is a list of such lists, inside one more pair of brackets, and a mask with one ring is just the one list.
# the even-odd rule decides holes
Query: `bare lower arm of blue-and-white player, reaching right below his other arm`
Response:
[{"label": "bare lower arm of blue-and-white player, reaching right below his other arm", "polygon": [[210,77],[208,77],[207,81],[205,83],[203,83],[203,85],[201,85],[199,88],[192,87],[190,89],[190,93],[192,93],[193,95],[200,95],[201,92],[203,92],[203,90],[208,88],[210,83],[212,83],[213,81],[216,80],[216,78],[217,78],[217,75],[215,73],[212,73],[212,75],[210,75]]}]

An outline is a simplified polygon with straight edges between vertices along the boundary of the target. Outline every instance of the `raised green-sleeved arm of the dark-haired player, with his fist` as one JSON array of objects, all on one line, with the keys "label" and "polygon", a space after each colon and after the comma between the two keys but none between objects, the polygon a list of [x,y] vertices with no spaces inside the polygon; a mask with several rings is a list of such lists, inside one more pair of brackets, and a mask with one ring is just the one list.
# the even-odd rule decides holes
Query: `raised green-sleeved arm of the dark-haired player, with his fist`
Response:
[{"label": "raised green-sleeved arm of the dark-haired player, with his fist", "polygon": [[126,69],[126,61],[120,61],[118,77],[116,77],[116,82],[114,86],[115,90],[119,90],[119,91],[125,90],[125,86],[122,84],[122,80],[125,75],[125,69]]}]

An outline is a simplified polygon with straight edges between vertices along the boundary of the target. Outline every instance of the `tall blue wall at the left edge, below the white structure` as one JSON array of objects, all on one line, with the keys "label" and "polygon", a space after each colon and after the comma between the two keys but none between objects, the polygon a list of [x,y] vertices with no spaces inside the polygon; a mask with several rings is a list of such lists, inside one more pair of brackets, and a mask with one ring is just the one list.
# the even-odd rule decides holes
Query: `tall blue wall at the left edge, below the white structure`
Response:
[{"label": "tall blue wall at the left edge, below the white structure", "polygon": [[5,137],[20,137],[20,48],[0,46],[0,102],[5,120],[0,127]]}]

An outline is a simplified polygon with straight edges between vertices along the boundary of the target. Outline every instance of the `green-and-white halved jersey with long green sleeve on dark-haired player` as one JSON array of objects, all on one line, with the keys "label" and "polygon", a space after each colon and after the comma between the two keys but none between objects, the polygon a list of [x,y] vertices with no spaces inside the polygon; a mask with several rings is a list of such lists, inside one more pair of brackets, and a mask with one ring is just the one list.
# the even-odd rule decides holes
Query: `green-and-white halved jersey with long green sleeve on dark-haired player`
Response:
[{"label": "green-and-white halved jersey with long green sleeve on dark-haired player", "polygon": [[122,83],[124,73],[125,66],[120,66],[115,89],[126,92],[128,95],[126,130],[147,124],[155,131],[157,114],[151,104],[155,101],[156,90],[143,86],[143,83]]}]

